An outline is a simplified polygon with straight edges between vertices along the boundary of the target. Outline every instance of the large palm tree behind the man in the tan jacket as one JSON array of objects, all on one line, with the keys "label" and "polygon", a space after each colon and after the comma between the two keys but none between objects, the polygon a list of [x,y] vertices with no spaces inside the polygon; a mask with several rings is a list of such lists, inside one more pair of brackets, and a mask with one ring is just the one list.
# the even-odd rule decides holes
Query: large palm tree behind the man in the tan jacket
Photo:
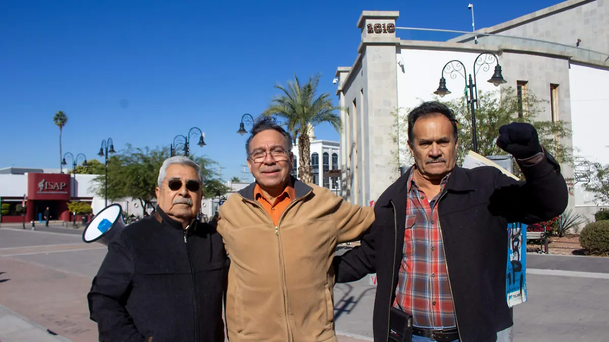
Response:
[{"label": "large palm tree behind the man in the tan jacket", "polygon": [[320,76],[315,75],[309,78],[308,83],[301,85],[294,74],[294,81],[288,82],[287,86],[275,86],[283,94],[275,97],[269,108],[262,113],[283,120],[294,143],[298,142],[298,175],[305,183],[311,183],[312,178],[309,127],[328,122],[337,131],[342,128],[340,116],[334,113],[340,107],[333,105],[328,92],[319,96],[316,94],[319,79]]}]

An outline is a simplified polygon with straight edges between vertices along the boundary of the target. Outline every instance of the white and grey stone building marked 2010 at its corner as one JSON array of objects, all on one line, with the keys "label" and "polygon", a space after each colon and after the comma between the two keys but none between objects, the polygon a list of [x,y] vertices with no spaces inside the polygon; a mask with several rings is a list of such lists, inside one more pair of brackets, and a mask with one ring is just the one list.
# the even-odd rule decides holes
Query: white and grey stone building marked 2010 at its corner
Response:
[{"label": "white and grey stone building marked 2010 at its corner", "polygon": [[[594,12],[588,9],[591,6]],[[515,19],[509,27],[530,26],[522,28],[521,32],[532,35],[540,30],[552,30],[552,25],[569,26],[577,31],[579,20],[582,27],[584,20],[590,24],[591,16],[602,15],[593,20],[609,20],[608,8],[602,1],[571,0]],[[588,15],[581,15],[582,10],[588,11]],[[345,199],[371,205],[400,176],[399,166],[412,164],[406,136],[398,134],[404,128],[396,125],[403,122],[411,108],[434,99],[433,92],[438,88],[447,62],[461,61],[468,76],[474,74],[477,57],[486,52],[494,54],[502,67],[507,83],[501,86],[530,91],[547,101],[539,120],[568,122],[572,136],[561,142],[574,147],[576,156],[609,163],[608,144],[599,141],[609,124],[604,109],[609,105],[606,81],[609,79],[609,55],[583,50],[576,46],[576,40],[572,41],[571,48],[567,48],[566,43],[552,45],[533,41],[537,44],[523,44],[522,39],[495,36],[479,36],[477,44],[473,35],[448,42],[400,40],[395,35],[398,15],[398,12],[362,12],[357,22],[361,30],[357,57],[353,66],[340,67],[336,72],[339,106],[347,108],[341,111],[344,129],[340,134],[339,153]],[[553,15],[561,19],[551,19]],[[607,24],[604,27],[609,27]],[[594,29],[598,31],[595,39],[609,41],[609,29],[596,26]],[[498,30],[489,28],[477,32]],[[594,45],[590,40],[586,41],[590,49],[606,47],[604,43]],[[496,89],[486,82],[493,75],[495,64],[496,61],[488,69],[476,66],[478,91]],[[446,72],[444,77],[452,94],[443,100],[462,97],[465,80],[459,75],[453,79]],[[590,203],[591,195],[583,190],[573,167],[565,165],[562,169],[571,190],[569,207],[593,220],[591,214],[600,208],[599,205]]]}]

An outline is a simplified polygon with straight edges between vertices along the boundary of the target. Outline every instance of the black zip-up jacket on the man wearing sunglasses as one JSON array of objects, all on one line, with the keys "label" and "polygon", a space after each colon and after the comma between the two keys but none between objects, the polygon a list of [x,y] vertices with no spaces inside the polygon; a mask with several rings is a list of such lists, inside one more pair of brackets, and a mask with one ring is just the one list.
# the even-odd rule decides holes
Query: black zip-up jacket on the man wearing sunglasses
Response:
[{"label": "black zip-up jacket on the man wearing sunglasses", "polygon": [[[87,296],[100,342],[224,342],[227,256],[215,229],[157,208],[125,227]],[[152,338],[152,339],[150,339]]]}]

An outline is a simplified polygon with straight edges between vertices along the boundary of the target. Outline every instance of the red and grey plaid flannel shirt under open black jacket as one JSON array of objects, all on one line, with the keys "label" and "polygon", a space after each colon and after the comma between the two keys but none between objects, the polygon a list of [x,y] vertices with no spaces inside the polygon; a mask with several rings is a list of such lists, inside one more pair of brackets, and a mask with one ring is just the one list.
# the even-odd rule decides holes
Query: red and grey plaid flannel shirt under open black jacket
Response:
[{"label": "red and grey plaid flannel shirt under open black jacket", "polygon": [[393,306],[410,313],[416,327],[455,327],[437,205],[449,175],[442,180],[440,193],[428,201],[413,173],[407,183],[404,249]]}]

